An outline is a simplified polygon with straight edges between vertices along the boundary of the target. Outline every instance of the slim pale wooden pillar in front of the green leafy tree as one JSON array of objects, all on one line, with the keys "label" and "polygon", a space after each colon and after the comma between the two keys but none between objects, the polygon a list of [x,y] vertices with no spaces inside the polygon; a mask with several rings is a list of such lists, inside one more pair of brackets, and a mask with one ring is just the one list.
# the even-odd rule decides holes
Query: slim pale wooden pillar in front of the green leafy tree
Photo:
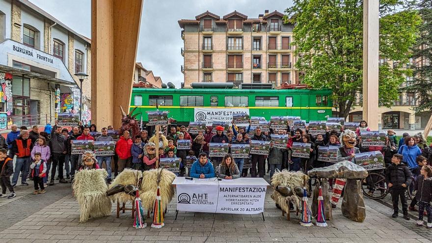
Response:
[{"label": "slim pale wooden pillar in front of the green leafy tree", "polygon": [[378,0],[363,0],[363,120],[378,130]]}]

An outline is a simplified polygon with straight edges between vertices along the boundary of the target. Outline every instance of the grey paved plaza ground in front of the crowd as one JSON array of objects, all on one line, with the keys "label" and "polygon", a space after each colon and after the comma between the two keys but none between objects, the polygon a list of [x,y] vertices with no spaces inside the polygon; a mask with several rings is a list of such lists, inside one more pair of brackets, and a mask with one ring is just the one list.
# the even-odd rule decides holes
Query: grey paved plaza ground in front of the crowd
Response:
[{"label": "grey paved plaza ground in front of the crowd", "polygon": [[[267,178],[268,179],[268,178]],[[31,181],[29,181],[31,182]],[[71,184],[48,187],[47,193],[33,195],[30,186],[17,186],[17,197],[0,198],[0,243],[203,243],[203,242],[361,242],[361,243],[429,243],[432,230],[415,226],[401,216],[391,218],[392,210],[368,198],[366,220],[351,221],[341,214],[340,205],[333,211],[329,227],[302,227],[294,213],[291,221],[282,217],[267,192],[265,217],[261,215],[222,215],[179,213],[175,216],[175,199],[168,206],[162,229],[132,227],[129,213],[80,223],[79,205],[71,194]],[[387,196],[388,199],[390,195]],[[114,206],[114,204],[113,204]]]}]

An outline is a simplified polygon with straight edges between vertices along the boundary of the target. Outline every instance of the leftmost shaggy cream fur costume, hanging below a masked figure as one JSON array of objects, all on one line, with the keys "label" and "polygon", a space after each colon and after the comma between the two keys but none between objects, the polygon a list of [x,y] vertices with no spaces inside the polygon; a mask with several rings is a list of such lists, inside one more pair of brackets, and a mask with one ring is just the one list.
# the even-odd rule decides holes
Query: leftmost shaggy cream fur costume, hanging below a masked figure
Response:
[{"label": "leftmost shaggy cream fur costume, hanging below a masked figure", "polygon": [[80,204],[81,223],[90,217],[111,215],[111,201],[105,195],[108,189],[105,183],[107,176],[105,169],[81,170],[75,173],[72,189]]}]

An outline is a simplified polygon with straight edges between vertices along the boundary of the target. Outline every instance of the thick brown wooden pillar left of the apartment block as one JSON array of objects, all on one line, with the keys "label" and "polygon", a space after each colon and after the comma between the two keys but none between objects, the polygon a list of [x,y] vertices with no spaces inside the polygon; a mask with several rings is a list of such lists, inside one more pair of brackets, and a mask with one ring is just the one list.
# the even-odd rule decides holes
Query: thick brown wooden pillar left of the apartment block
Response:
[{"label": "thick brown wooden pillar left of the apartment block", "polygon": [[91,114],[99,127],[119,129],[129,110],[142,0],[91,1]]}]

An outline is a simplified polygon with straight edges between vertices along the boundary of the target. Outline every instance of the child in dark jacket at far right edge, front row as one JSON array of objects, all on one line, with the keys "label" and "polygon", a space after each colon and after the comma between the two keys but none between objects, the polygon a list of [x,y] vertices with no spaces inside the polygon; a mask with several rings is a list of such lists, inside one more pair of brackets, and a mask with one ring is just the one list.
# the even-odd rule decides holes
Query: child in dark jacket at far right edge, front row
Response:
[{"label": "child in dark jacket at far right edge, front row", "polygon": [[415,198],[419,202],[417,226],[423,225],[423,211],[426,209],[426,212],[428,212],[426,228],[432,229],[432,167],[425,165],[420,173],[421,175],[417,178],[417,183],[415,185],[415,189],[417,190]]}]

